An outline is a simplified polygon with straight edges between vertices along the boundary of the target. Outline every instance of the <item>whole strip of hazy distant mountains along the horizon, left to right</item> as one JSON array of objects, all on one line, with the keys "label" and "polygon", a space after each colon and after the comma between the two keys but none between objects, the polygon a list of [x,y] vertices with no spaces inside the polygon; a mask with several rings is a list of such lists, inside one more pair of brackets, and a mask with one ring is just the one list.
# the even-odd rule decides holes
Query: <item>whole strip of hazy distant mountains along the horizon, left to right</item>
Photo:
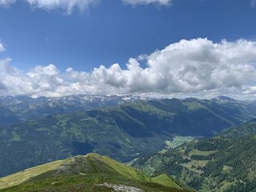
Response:
[{"label": "whole strip of hazy distant mountains along the horizon, left to right", "polygon": [[[256,117],[256,101],[236,101],[227,96],[215,99],[149,99],[139,96],[72,95],[55,98],[29,96],[0,96],[0,125],[17,123],[71,112],[83,112],[102,107],[116,106],[125,102],[148,101],[160,110],[182,112],[193,107],[211,108],[213,112],[234,116],[238,122]],[[182,109],[179,107],[183,107]]]}]

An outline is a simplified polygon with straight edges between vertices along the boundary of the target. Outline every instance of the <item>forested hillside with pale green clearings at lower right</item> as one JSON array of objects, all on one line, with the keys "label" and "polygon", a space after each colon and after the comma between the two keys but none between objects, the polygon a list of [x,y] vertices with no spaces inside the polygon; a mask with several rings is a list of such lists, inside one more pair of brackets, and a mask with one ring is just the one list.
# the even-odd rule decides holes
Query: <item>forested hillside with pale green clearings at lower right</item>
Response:
[{"label": "forested hillside with pale green clearings at lower right", "polygon": [[217,137],[148,155],[133,165],[146,174],[170,174],[197,191],[256,191],[254,121]]}]

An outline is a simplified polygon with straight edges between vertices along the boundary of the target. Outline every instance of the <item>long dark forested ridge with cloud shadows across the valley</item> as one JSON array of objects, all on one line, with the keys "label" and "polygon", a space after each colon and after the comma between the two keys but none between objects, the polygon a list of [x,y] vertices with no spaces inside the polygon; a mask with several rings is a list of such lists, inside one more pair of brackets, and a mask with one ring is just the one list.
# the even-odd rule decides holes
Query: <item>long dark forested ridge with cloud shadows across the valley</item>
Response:
[{"label": "long dark forested ridge with cloud shadows across the valley", "polygon": [[185,142],[175,138],[208,137],[237,125],[249,118],[244,106],[200,99],[135,101],[1,126],[0,177],[87,153],[133,161]]}]

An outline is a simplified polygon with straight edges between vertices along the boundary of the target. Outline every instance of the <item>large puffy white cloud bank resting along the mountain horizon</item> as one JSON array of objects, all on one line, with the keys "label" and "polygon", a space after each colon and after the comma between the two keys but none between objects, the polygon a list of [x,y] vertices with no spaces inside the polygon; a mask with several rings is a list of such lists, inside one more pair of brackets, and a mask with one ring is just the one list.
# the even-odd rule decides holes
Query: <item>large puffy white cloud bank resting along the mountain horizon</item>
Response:
[{"label": "large puffy white cloud bank resting along the mountain horizon", "polygon": [[[146,62],[146,68],[140,62]],[[78,72],[71,67],[60,72],[53,64],[23,72],[11,65],[10,58],[0,61],[0,95],[82,93],[254,96],[256,42],[181,40],[149,55],[129,58],[126,69],[113,64],[92,72]]]}]

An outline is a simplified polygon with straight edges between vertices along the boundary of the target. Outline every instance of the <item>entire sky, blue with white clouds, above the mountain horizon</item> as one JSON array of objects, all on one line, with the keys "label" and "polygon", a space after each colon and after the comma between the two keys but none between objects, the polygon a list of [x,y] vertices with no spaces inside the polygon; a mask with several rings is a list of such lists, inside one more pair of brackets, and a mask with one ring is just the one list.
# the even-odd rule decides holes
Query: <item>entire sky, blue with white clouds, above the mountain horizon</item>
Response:
[{"label": "entire sky, blue with white clouds, above the mountain horizon", "polygon": [[0,95],[256,99],[251,0],[0,0]]}]

